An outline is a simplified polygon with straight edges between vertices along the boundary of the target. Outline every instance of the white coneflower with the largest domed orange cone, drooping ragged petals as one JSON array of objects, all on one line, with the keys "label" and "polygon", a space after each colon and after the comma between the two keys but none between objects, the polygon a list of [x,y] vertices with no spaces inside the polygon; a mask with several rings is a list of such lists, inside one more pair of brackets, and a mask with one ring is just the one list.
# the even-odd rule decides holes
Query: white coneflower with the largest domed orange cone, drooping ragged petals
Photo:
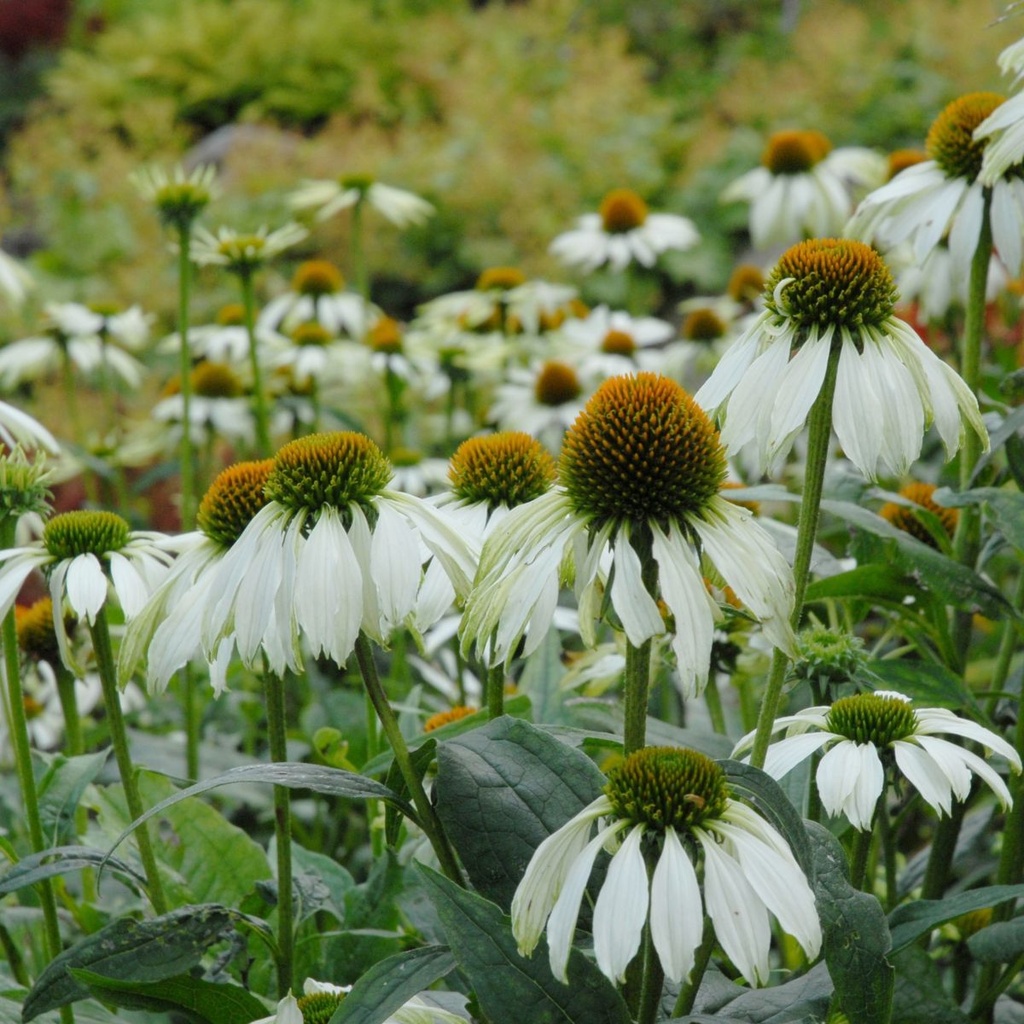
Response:
[{"label": "white coneflower with the largest domed orange cone, drooping ragged petals", "polygon": [[772,642],[790,650],[792,571],[751,513],[719,494],[725,471],[718,431],[678,384],[647,373],[606,381],[565,436],[559,483],[513,509],[485,544],[464,646],[486,647],[493,664],[508,662],[529,629],[529,653],[550,624],[566,556],[574,562],[584,642],[595,642],[610,564],[608,603],[639,646],[668,632],[655,588],[645,582],[653,566],[656,592],[675,617],[681,686],[697,692],[717,614],[702,551]]}]

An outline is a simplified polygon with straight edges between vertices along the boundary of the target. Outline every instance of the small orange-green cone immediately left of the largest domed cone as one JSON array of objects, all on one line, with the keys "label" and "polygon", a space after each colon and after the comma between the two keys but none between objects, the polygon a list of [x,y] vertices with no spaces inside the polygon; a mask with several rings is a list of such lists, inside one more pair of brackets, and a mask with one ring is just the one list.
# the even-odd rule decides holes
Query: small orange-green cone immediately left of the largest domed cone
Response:
[{"label": "small orange-green cone immediately left of the largest domed cone", "polygon": [[509,430],[463,441],[452,457],[449,479],[464,501],[513,508],[548,490],[555,463],[537,438]]}]

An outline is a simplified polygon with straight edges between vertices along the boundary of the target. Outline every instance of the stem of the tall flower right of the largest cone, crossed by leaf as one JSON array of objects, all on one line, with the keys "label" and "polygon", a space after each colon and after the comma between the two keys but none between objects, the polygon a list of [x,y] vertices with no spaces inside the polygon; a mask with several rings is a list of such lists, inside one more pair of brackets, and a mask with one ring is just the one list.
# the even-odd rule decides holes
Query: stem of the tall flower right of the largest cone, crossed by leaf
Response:
[{"label": "stem of the tall flower right of the largest cone, crossed by leaf", "polygon": [[[821,489],[828,461],[828,441],[831,438],[831,410],[833,398],[836,395],[836,375],[839,372],[839,347],[834,344],[828,353],[828,365],[824,380],[821,382],[821,390],[807,421],[807,468],[804,476],[804,495],[800,503],[800,519],[797,523],[797,553],[793,564],[796,591],[790,623],[794,629],[800,625],[800,616],[804,609],[804,593],[807,590],[807,577],[811,568],[811,555],[814,552],[814,539],[818,529]],[[765,757],[768,754],[768,743],[771,739],[772,726],[775,724],[775,716],[778,714],[782,683],[785,681],[785,670],[788,665],[788,655],[776,647],[772,652],[771,672],[761,701],[754,750],[751,753],[751,764],[757,768],[764,767]]]}]

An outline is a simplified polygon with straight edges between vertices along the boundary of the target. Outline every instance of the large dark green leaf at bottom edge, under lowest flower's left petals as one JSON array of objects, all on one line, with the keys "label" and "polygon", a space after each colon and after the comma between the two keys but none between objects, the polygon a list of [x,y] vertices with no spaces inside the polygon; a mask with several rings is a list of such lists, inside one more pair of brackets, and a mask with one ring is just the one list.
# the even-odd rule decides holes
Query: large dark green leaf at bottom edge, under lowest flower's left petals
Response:
[{"label": "large dark green leaf at bottom edge, under lowest flower's left petals", "polygon": [[459,968],[490,1024],[630,1024],[617,989],[579,949],[569,953],[568,984],[548,966],[545,944],[520,956],[507,914],[476,893],[417,865]]}]

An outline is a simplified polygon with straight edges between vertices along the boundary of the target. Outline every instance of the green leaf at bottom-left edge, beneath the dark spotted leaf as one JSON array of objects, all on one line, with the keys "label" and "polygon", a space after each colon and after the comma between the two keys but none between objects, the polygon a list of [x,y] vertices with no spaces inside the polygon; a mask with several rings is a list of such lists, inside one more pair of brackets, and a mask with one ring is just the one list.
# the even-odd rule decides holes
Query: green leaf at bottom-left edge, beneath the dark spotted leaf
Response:
[{"label": "green leaf at bottom-left edge, beneath the dark spotted leaf", "polygon": [[202,1024],[249,1024],[267,1015],[266,1007],[240,985],[215,984],[187,974],[151,982],[119,981],[83,969],[71,974],[96,998],[126,1010],[177,1011]]}]

